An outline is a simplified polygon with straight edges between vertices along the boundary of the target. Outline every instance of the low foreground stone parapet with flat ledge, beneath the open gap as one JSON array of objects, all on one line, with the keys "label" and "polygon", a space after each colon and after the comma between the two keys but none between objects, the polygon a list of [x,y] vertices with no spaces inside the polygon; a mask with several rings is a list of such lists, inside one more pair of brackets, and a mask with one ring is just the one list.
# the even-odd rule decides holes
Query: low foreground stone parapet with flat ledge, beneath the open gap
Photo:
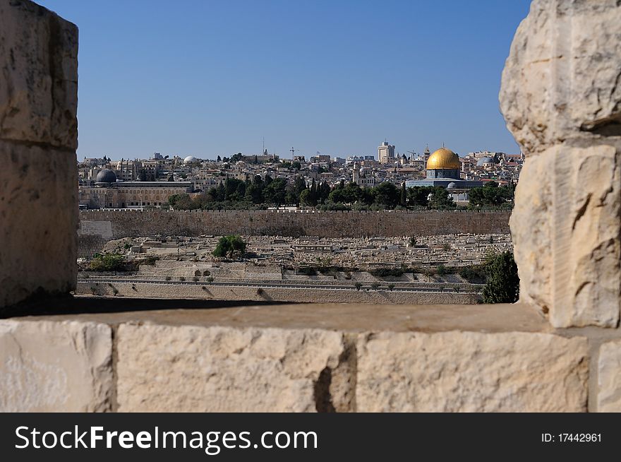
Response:
[{"label": "low foreground stone parapet with flat ledge, beneath the open gap", "polygon": [[31,317],[0,345],[2,411],[621,411],[618,336],[528,305]]}]

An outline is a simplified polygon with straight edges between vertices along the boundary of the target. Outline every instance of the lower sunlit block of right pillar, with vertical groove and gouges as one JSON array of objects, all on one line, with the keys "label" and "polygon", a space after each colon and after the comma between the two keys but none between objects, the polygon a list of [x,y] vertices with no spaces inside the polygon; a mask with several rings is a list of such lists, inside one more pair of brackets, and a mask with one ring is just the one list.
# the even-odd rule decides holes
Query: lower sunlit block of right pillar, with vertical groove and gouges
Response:
[{"label": "lower sunlit block of right pillar, with vertical groove and gouges", "polygon": [[520,298],[555,327],[615,327],[621,307],[621,153],[555,146],[526,159],[510,220]]}]

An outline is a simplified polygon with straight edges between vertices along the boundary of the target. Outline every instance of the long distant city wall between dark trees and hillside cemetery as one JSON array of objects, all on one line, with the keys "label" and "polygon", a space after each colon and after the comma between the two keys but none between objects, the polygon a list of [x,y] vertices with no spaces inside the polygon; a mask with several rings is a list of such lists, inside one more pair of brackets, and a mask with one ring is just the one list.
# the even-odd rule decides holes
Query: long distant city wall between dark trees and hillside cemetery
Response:
[{"label": "long distant city wall between dark trees and hillside cemetery", "polygon": [[80,211],[80,235],[272,235],[379,237],[509,232],[510,213],[290,212],[290,211]]}]

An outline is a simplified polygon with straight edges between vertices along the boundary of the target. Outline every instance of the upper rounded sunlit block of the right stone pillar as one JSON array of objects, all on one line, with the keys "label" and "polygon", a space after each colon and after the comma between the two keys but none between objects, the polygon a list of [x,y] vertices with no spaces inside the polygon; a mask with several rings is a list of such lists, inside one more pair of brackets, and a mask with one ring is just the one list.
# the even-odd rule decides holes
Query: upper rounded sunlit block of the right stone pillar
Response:
[{"label": "upper rounded sunlit block of the right stone pillar", "polygon": [[619,1],[534,0],[502,72],[500,108],[528,155],[574,136],[621,135],[620,83]]}]

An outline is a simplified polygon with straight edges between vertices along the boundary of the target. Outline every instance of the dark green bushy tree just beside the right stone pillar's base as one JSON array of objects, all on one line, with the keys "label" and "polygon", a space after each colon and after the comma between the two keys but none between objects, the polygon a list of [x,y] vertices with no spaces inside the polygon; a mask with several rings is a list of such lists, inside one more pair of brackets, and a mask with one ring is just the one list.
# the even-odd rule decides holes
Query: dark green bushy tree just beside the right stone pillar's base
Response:
[{"label": "dark green bushy tree just beside the right stone pillar's base", "polygon": [[484,303],[514,303],[519,296],[519,277],[512,251],[488,256],[485,263],[488,276],[483,288]]}]

